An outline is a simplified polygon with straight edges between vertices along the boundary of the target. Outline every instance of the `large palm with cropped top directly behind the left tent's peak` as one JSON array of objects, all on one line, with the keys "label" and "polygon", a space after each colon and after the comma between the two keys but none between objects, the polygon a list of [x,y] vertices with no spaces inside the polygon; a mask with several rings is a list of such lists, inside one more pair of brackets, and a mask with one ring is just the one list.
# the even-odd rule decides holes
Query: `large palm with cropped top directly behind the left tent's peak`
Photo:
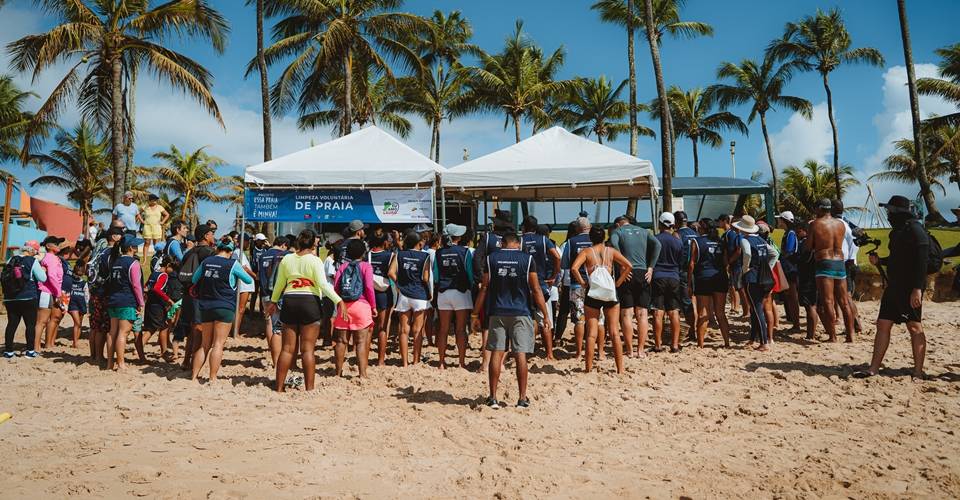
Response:
[{"label": "large palm with cropped top directly behind the left tent's peak", "polygon": [[[426,32],[429,23],[423,18],[393,12],[402,0],[314,0],[272,1],[266,6],[268,16],[287,16],[273,29],[274,43],[264,51],[267,65],[293,56],[272,90],[273,111],[285,113],[297,101],[308,78],[329,79],[318,73],[337,67],[343,75],[344,91],[340,97],[343,125],[349,134],[355,116],[353,110],[353,74],[360,58],[393,79],[387,59],[421,72],[417,53],[402,40],[411,33]],[[361,65],[362,67],[362,65]],[[252,70],[248,66],[248,71]]]}]

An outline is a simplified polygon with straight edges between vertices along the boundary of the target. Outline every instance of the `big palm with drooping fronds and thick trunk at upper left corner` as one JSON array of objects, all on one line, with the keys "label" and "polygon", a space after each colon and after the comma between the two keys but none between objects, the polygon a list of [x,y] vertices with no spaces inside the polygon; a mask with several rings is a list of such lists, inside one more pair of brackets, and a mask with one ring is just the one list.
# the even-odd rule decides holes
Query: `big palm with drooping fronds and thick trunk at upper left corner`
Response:
[{"label": "big palm with drooping fronds and thick trunk at upper left corner", "polygon": [[[125,184],[124,133],[129,124],[125,124],[123,96],[140,65],[195,98],[223,125],[210,92],[210,74],[196,61],[163,45],[172,36],[199,38],[209,40],[217,53],[223,52],[227,21],[206,0],[171,0],[153,8],[143,0],[35,1],[58,22],[46,33],[25,36],[7,46],[13,68],[31,71],[36,80],[55,64],[71,64],[37,110],[34,124],[56,121],[65,101],[76,95],[82,116],[97,130],[110,132],[114,203],[120,202],[120,187]],[[37,128],[32,126],[27,133],[24,157]]]}]

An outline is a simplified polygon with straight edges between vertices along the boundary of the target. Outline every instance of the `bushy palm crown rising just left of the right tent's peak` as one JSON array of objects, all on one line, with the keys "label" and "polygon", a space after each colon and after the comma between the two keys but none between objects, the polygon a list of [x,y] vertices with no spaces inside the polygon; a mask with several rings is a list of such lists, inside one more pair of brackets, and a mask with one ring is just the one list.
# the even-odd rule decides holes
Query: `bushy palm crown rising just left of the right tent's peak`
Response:
[{"label": "bushy palm crown rising just left of the right tent's peak", "polygon": [[480,61],[481,67],[470,69],[470,99],[475,99],[480,109],[503,112],[504,129],[513,123],[516,142],[520,142],[521,119],[528,118],[535,125],[549,122],[548,100],[577,85],[573,80],[554,80],[563,65],[563,47],[544,58],[519,20],[503,51],[483,54]]}]

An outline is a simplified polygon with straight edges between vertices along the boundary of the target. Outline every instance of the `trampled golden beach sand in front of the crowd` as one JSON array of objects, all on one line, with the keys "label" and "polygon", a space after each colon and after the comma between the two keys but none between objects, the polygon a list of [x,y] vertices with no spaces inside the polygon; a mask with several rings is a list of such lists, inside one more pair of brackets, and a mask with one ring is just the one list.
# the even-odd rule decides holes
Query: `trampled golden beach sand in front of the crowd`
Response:
[{"label": "trampled golden beach sand in front of the crowd", "polygon": [[[536,359],[526,410],[483,407],[486,376],[459,369],[336,379],[330,350],[316,391],[276,394],[253,337],[229,342],[214,386],[160,361],[101,371],[61,338],[0,362],[0,412],[14,415],[0,497],[957,498],[960,308],[925,308],[927,382],[909,377],[903,330],[868,380],[849,375],[872,327],[852,345],[798,334],[763,354],[717,349],[716,334],[623,376],[609,356],[590,374]],[[512,372],[502,387],[514,402]]]}]

